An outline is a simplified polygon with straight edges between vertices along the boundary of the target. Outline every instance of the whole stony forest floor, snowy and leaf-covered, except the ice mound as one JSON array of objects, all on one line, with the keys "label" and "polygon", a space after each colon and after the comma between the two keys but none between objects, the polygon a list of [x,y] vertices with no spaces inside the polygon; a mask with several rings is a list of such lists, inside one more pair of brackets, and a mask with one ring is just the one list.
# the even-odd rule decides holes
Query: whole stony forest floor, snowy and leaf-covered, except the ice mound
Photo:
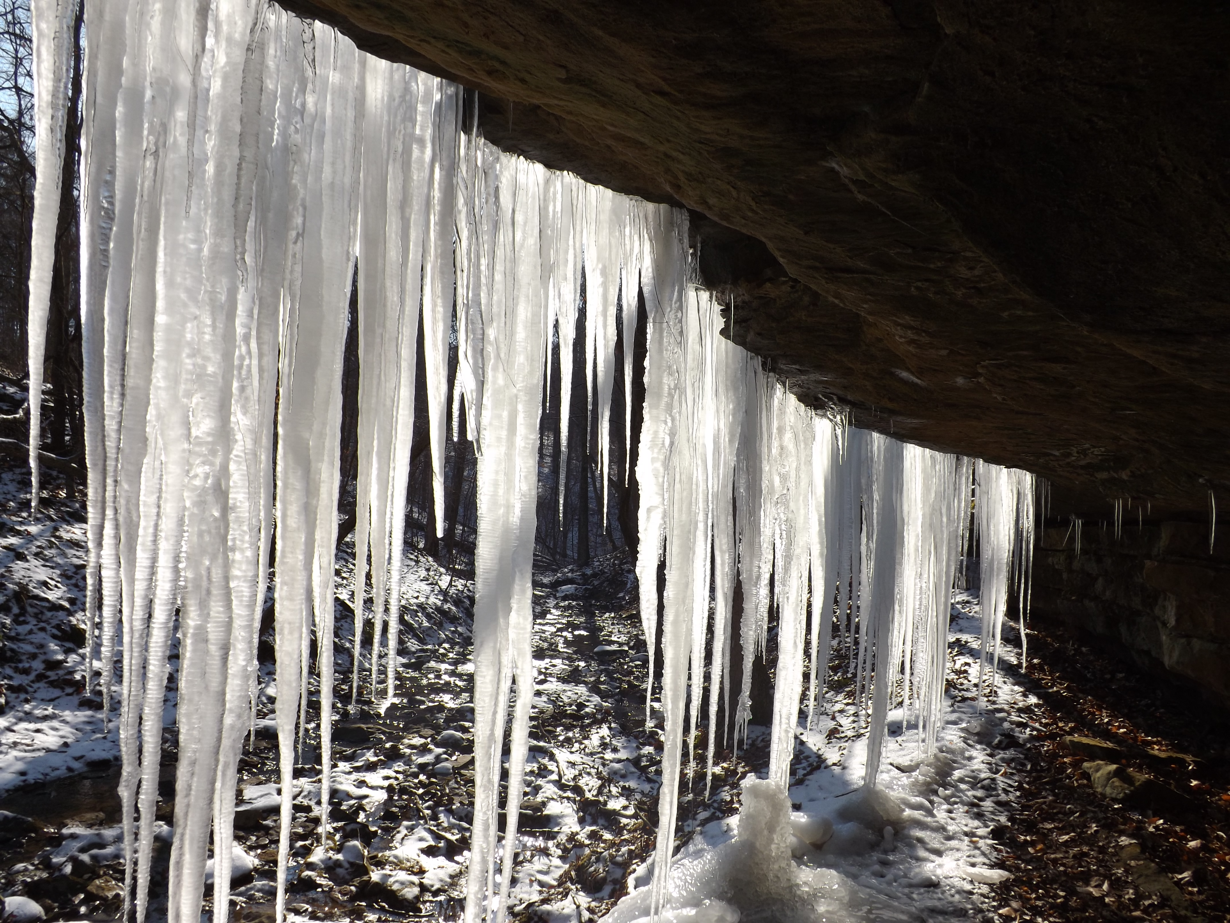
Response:
[{"label": "whole stony forest floor, snowy and leaf-covered, except the ice mound", "polygon": [[[52,501],[31,523],[15,479],[20,471],[0,473],[0,769],[7,773],[0,780],[0,892],[32,902],[10,900],[10,912],[114,919],[123,881],[118,769],[113,731],[103,730],[98,703],[81,687],[81,511]],[[344,549],[341,559],[346,586]],[[540,688],[512,885],[515,918],[582,923],[646,879],[662,745],[645,726],[647,657],[630,564],[621,553],[536,578]],[[417,553],[407,555],[407,569],[399,697],[386,708],[349,704],[352,621],[338,604],[332,827],[321,848],[319,756],[309,736],[292,831],[289,905],[299,918],[460,916],[474,780],[471,587]],[[908,737],[903,721],[891,731],[882,774],[926,823],[943,828],[942,854],[902,836],[888,855],[877,845],[846,873],[889,900],[895,895],[903,919],[1228,919],[1225,725],[1165,683],[1043,626],[1030,633],[1026,673],[1014,637],[1006,639],[1004,682],[979,713],[972,612],[968,598],[954,608],[940,759],[920,768],[894,756]],[[835,661],[843,658],[838,650]],[[247,921],[271,918],[278,833],[276,689],[268,665],[264,671],[262,719],[240,768],[235,847],[242,858],[232,900],[235,918]],[[791,789],[800,804],[859,772],[862,722],[840,669],[830,687],[830,708],[800,749]],[[167,703],[164,822],[173,812],[173,693]],[[737,781],[765,762],[755,733],[737,758],[720,753],[712,797],[704,799],[700,784],[685,794],[680,843],[733,815]],[[159,839],[164,861],[167,834]]]}]

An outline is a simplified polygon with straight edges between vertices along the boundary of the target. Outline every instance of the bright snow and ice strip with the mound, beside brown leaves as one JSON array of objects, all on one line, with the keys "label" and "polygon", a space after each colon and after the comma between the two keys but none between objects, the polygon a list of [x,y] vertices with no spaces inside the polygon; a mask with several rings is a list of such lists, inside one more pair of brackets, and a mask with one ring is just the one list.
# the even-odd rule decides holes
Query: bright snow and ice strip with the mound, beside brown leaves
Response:
[{"label": "bright snow and ice strip with the mound, beside brown leaves", "polygon": [[[742,812],[712,821],[679,852],[667,908],[672,923],[943,921],[979,916],[999,868],[991,839],[1014,804],[1015,769],[1028,736],[1018,706],[1033,701],[1000,677],[977,701],[978,603],[957,598],[952,682],[932,757],[920,759],[915,716],[889,714],[875,790],[862,788],[866,741],[846,694],[830,698],[815,731],[801,733],[788,799],[748,777]],[[1005,645],[1001,658],[1020,651]],[[632,923],[651,913],[652,869],[608,914]],[[558,908],[565,909],[565,908]]]}]

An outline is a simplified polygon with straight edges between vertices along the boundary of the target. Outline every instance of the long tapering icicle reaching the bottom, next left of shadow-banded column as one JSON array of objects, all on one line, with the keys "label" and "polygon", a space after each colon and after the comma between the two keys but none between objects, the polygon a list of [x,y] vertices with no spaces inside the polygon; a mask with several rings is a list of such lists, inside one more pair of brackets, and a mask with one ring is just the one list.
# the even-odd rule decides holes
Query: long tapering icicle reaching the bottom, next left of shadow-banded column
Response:
[{"label": "long tapering icicle reaching the bottom, next left of shadow-banded column", "polygon": [[[279,919],[285,903],[296,709],[305,693],[305,655],[315,610],[332,612],[337,434],[341,423],[342,345],[353,278],[358,139],[363,60],[332,30],[315,28],[315,86],[305,113],[308,144],[299,177],[306,191],[303,236],[293,251],[289,310],[283,325],[278,415],[277,655],[278,742],[282,761]],[[327,597],[325,594],[328,593]],[[321,620],[320,628],[328,626]],[[390,656],[395,634],[390,630]],[[321,639],[328,647],[331,639]],[[322,656],[326,656],[322,651]],[[330,720],[321,695],[321,724]],[[322,759],[327,757],[322,754]]]}]

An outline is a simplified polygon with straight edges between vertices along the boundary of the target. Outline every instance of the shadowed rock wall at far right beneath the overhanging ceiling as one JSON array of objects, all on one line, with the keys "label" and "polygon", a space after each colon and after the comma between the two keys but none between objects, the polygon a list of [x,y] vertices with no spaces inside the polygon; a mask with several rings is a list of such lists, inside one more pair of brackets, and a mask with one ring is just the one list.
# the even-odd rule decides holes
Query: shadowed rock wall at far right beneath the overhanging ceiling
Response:
[{"label": "shadowed rock wall at far right beneath the overhanging ceiling", "polygon": [[1068,528],[1048,528],[1037,550],[1033,614],[1109,639],[1150,669],[1178,674],[1230,708],[1230,549],[1209,554],[1194,523],[1086,524],[1080,557]]}]

